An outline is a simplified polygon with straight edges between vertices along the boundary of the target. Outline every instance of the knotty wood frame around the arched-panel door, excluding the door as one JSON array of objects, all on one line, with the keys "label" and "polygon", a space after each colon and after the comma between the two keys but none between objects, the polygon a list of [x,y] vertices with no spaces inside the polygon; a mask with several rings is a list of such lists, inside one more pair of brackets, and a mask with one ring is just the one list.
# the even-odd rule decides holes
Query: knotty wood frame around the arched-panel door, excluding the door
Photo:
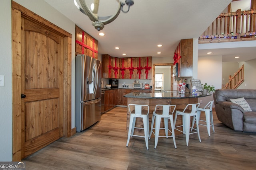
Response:
[{"label": "knotty wood frame around the arched-panel door, excluding the door", "polygon": [[[64,39],[64,82],[63,93],[64,96],[63,106],[63,136],[72,136],[71,129],[71,40],[72,35],[54,25],[53,23],[38,16],[34,12],[24,8],[20,4],[12,1],[12,160],[22,160],[22,115],[24,110],[21,106],[21,57],[22,57],[22,44],[21,44],[21,17],[30,18],[38,21],[43,25],[54,29],[60,33],[60,36]],[[60,82],[62,83],[62,82]]]}]

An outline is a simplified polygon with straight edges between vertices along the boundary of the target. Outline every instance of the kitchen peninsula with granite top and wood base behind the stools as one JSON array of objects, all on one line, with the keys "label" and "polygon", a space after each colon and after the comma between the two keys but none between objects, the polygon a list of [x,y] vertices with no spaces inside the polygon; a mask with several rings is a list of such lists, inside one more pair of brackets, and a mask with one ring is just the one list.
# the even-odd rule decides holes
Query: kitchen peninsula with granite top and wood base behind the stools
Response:
[{"label": "kitchen peninsula with granite top and wood base behind the stools", "polygon": [[[198,103],[198,98],[210,96],[211,94],[202,94],[200,96],[192,96],[191,93],[179,94],[177,91],[174,92],[154,92],[154,93],[136,93],[132,92],[124,95],[127,98],[128,104],[144,104],[149,106],[149,123],[151,124],[152,113],[157,104],[175,104],[176,109],[184,109],[187,104]],[[175,112],[174,112],[175,113]],[[174,115],[173,115],[174,116]],[[130,122],[130,113],[127,107],[127,127],[129,127]],[[139,125],[140,124],[140,125]],[[142,121],[136,121],[136,126],[142,126]],[[176,125],[182,125],[182,117],[178,117]],[[161,123],[162,127],[162,123]],[[135,129],[136,131],[138,129]],[[137,131],[136,133],[140,133]],[[144,132],[141,132],[144,133]],[[175,131],[176,134],[179,134],[178,131]]]}]

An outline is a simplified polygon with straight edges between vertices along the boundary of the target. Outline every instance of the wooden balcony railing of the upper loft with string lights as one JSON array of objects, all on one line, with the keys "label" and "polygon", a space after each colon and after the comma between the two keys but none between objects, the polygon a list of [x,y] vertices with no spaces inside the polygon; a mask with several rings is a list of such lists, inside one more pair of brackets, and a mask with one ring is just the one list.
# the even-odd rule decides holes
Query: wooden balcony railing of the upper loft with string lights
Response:
[{"label": "wooden balcony railing of the upper loft with string lights", "polygon": [[[214,22],[199,37],[199,43],[207,43],[207,41],[230,41],[230,39],[251,38],[256,37],[256,10],[222,13],[214,20]],[[234,40],[235,41],[235,40]]]}]

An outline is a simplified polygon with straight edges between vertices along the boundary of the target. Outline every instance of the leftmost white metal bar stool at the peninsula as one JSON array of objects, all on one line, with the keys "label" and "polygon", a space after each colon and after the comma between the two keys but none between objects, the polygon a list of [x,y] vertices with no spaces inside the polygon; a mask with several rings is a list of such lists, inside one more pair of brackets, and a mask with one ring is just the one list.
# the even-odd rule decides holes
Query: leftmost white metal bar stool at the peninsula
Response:
[{"label": "leftmost white metal bar stool at the peninsula", "polygon": [[[134,110],[131,111],[131,106],[134,106]],[[147,110],[143,108],[147,108]],[[133,108],[133,107],[132,107]],[[126,147],[128,147],[130,137],[143,137],[145,138],[146,148],[148,150],[148,137],[149,137],[149,122],[148,122],[148,113],[149,113],[149,106],[148,105],[138,105],[138,104],[128,104],[128,109],[130,112],[130,123],[129,123],[129,130],[128,130],[128,138]],[[141,117],[143,119],[143,127],[135,127],[136,118]],[[134,129],[144,129],[144,136],[141,135],[134,135]]]}]

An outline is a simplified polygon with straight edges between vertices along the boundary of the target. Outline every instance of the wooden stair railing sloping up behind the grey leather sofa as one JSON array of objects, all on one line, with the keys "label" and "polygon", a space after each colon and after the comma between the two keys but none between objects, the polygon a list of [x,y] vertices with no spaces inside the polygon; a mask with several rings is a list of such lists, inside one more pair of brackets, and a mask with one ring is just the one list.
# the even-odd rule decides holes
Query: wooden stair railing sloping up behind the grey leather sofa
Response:
[{"label": "wooden stair railing sloping up behind the grey leather sofa", "polygon": [[229,76],[229,81],[225,88],[236,89],[244,82],[244,64],[238,69],[234,76]]}]

